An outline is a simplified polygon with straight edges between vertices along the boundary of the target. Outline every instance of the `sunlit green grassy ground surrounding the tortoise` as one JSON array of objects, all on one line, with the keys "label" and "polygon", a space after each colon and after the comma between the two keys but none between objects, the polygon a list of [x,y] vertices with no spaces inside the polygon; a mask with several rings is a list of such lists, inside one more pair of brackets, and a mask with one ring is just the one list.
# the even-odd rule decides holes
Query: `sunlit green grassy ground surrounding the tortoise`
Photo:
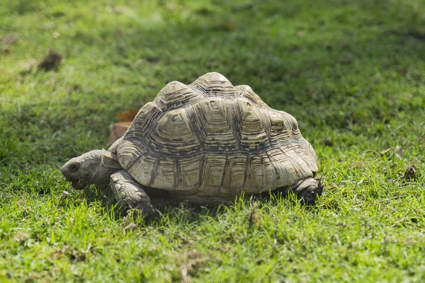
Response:
[{"label": "sunlit green grassy ground surrounding the tortoise", "polygon": [[[0,7],[0,282],[423,282],[423,1],[70,3]],[[315,207],[168,207],[125,232],[94,188],[59,202],[58,168],[105,147],[115,111],[208,71],[297,118]]]}]

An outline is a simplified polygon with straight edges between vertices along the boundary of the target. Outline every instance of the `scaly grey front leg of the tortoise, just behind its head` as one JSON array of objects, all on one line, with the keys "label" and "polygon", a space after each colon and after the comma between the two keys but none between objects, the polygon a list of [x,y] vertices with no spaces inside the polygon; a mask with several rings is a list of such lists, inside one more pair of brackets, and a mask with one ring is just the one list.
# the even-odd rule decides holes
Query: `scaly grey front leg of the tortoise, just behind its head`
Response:
[{"label": "scaly grey front leg of the tortoise, just behind its head", "polygon": [[119,204],[125,211],[140,209],[148,219],[159,216],[159,211],[152,206],[149,196],[143,186],[137,183],[126,171],[118,171],[111,175],[109,187]]}]

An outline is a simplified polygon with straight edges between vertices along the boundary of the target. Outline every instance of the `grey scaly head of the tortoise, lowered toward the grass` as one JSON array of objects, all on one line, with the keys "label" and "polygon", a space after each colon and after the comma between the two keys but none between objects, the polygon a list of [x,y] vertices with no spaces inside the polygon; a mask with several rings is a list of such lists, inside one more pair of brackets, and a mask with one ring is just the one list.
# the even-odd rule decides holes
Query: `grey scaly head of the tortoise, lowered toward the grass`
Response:
[{"label": "grey scaly head of the tortoise, lowered toward the grass", "polygon": [[88,185],[105,186],[112,173],[122,170],[115,154],[104,149],[86,152],[69,160],[60,171],[72,187],[82,190]]}]

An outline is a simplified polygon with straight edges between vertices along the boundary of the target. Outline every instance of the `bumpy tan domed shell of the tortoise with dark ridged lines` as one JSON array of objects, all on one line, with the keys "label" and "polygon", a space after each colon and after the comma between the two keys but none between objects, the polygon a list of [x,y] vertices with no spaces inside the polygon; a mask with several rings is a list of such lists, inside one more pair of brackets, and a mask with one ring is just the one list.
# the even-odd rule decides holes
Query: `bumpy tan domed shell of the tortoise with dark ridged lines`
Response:
[{"label": "bumpy tan domed shell of the tortoise with dark ridged lines", "polygon": [[118,142],[118,161],[137,182],[186,195],[275,190],[317,171],[293,116],[218,73],[168,83]]}]

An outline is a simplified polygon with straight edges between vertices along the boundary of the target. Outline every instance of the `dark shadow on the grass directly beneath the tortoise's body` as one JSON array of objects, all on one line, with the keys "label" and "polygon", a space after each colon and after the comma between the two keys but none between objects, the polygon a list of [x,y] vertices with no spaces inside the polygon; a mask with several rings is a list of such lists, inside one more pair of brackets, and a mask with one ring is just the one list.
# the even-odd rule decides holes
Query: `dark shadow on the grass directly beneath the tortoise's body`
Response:
[{"label": "dark shadow on the grass directly beneath the tortoise's body", "polygon": [[[302,200],[297,198],[290,190],[275,190],[273,192],[266,192],[259,195],[246,196],[244,193],[234,197],[234,200],[228,201],[222,204],[204,204],[196,205],[189,204],[188,202],[168,202],[164,199],[164,202],[159,205],[154,205],[162,216],[154,219],[145,219],[143,214],[140,214],[137,209],[123,210],[120,204],[117,204],[115,197],[112,192],[108,189],[98,189],[94,185],[86,188],[81,192],[77,193],[78,201],[84,201],[90,206],[90,204],[100,203],[104,209],[105,214],[109,214],[112,219],[122,220],[125,226],[130,224],[131,221],[135,221],[137,224],[142,226],[166,226],[170,223],[179,224],[191,224],[198,225],[203,224],[205,221],[220,221],[222,217],[227,218],[227,215],[243,215],[246,217],[246,224],[251,226],[255,224],[252,215],[256,214],[261,207],[276,207],[283,205],[293,209],[294,207],[300,207],[306,213],[315,213],[319,207],[316,204],[305,204]],[[84,197],[84,199],[81,199]],[[150,195],[152,198],[152,195]],[[157,204],[159,202],[157,201]],[[66,207],[68,204],[60,204]],[[332,209],[331,207],[326,207]],[[338,210],[338,209],[336,209]],[[255,216],[254,216],[255,218]]]}]

